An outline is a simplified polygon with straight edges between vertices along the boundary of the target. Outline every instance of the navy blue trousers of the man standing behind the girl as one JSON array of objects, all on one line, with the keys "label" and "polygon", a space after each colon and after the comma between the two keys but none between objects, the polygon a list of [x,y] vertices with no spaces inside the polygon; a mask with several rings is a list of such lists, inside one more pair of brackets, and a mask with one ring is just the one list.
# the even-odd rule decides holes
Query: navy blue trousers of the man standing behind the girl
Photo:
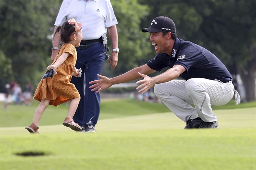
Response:
[{"label": "navy blue trousers of the man standing behind the girl", "polygon": [[91,91],[89,88],[91,84],[89,84],[89,82],[99,79],[97,74],[101,74],[102,66],[106,56],[104,52],[106,50],[101,43],[97,43],[83,50],[80,50],[78,47],[76,47],[76,51],[76,68],[82,69],[82,76],[73,76],[70,82],[75,84],[75,87],[78,89],[78,92],[81,96],[81,100],[73,119],[76,123],[82,126],[88,123],[93,117],[93,119],[91,119],[91,124],[95,126],[99,119],[101,96],[100,93]]}]

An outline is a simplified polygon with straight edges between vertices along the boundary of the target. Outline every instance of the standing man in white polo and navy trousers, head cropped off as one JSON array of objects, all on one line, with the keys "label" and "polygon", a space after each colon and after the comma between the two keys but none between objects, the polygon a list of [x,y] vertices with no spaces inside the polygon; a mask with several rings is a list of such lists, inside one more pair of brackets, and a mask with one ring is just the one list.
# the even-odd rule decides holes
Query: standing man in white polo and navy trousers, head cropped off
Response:
[{"label": "standing man in white polo and navy trousers, head cropped off", "polygon": [[[112,45],[109,65],[111,69],[117,65],[119,52],[117,20],[110,0],[63,0],[54,24],[55,30],[70,18],[82,23],[83,29],[83,40],[80,46],[76,47],[78,54],[76,67],[82,68],[82,77],[72,77],[71,80],[81,95],[73,119],[82,127],[82,132],[96,132],[94,127],[99,118],[101,97],[99,93],[89,89],[89,82],[98,79],[97,74],[101,74],[103,63],[108,58],[107,30]],[[60,39],[58,35],[53,38],[52,61],[58,53]]]}]

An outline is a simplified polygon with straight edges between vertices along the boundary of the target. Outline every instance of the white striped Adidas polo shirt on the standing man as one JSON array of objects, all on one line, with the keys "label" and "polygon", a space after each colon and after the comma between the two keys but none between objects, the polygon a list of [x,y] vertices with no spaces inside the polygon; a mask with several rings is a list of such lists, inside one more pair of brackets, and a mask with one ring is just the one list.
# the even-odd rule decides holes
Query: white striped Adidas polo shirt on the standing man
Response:
[{"label": "white striped Adidas polo shirt on the standing man", "polygon": [[71,18],[82,23],[83,40],[98,39],[117,24],[110,0],[63,0],[54,25]]}]

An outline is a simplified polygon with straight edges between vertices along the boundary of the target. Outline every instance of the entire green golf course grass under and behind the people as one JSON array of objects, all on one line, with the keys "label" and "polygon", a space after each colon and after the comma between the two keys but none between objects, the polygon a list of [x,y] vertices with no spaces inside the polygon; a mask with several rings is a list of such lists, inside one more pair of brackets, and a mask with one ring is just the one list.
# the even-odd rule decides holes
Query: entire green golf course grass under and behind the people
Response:
[{"label": "entire green golf course grass under and behind the people", "polygon": [[[231,102],[214,109],[220,129],[183,130],[186,123],[163,104],[103,100],[97,134],[75,133],[61,125],[67,114],[61,105],[47,108],[40,135],[24,129],[38,102],[32,107],[10,105],[0,111],[0,169],[254,170],[255,104]],[[30,152],[44,155],[17,155]]]}]

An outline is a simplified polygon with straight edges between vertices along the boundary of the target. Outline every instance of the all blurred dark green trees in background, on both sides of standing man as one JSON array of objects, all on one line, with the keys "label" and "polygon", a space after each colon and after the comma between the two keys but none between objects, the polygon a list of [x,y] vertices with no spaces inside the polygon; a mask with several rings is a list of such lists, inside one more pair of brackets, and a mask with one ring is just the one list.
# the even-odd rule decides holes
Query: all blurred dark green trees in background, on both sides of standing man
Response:
[{"label": "all blurred dark green trees in background, on both sides of standing man", "polygon": [[[62,0],[0,1],[0,92],[16,81],[37,87],[51,63],[52,33]],[[111,0],[119,35],[119,61],[102,75],[113,77],[155,56],[149,27],[158,16],[176,24],[178,38],[212,51],[232,75],[240,75],[246,100],[255,101],[256,0]],[[111,49],[110,44],[108,45]],[[164,70],[165,71],[165,70]],[[159,74],[159,72],[155,73]],[[153,76],[153,75],[152,75]]]}]

